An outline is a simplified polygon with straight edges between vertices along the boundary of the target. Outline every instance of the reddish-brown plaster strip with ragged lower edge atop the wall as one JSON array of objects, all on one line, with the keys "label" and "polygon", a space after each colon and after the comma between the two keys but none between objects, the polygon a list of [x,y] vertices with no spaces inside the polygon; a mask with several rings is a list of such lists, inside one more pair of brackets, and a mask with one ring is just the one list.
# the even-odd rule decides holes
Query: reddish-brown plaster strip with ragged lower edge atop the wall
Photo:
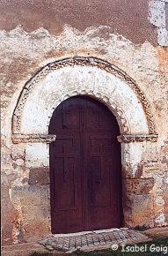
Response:
[{"label": "reddish-brown plaster strip with ragged lower edge atop the wall", "polygon": [[[119,33],[130,41],[148,39],[157,44],[157,29],[150,25],[149,0],[1,0],[0,24],[10,31],[18,24],[26,32],[44,27],[50,34],[62,33],[66,24],[84,32],[91,26],[108,26],[101,35]],[[6,19],[8,22],[6,22]],[[138,32],[138,36],[137,36]]]}]

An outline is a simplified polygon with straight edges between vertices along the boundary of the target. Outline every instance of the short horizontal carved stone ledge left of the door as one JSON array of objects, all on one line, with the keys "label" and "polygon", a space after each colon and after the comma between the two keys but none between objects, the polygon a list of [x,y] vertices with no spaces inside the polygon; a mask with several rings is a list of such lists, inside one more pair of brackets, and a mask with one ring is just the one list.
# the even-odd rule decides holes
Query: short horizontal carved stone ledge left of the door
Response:
[{"label": "short horizontal carved stone ledge left of the door", "polygon": [[26,143],[26,142],[45,142],[51,143],[55,141],[55,134],[12,134],[13,143]]}]

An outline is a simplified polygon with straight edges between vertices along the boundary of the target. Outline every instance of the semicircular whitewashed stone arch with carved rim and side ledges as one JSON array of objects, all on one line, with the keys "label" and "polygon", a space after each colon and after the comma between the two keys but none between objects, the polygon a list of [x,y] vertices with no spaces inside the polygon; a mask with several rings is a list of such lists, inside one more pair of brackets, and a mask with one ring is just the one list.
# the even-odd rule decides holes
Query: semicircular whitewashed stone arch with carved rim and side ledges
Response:
[{"label": "semicircular whitewashed stone arch with carved rim and side ledges", "polygon": [[47,137],[50,117],[62,101],[77,94],[111,109],[121,141],[157,139],[150,104],[135,81],[104,60],[76,56],[47,64],[26,83],[12,117],[13,142],[55,139]]}]

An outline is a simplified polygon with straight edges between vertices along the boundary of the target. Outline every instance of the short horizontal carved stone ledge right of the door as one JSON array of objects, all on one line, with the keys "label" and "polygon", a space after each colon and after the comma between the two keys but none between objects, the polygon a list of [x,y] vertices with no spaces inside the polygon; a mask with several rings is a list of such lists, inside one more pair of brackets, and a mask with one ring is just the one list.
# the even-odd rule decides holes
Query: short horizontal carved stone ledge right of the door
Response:
[{"label": "short horizontal carved stone ledge right of the door", "polygon": [[137,134],[137,135],[131,135],[131,134],[121,134],[117,137],[119,142],[124,143],[130,143],[130,142],[142,142],[142,141],[152,141],[156,142],[158,138],[157,133],[152,134]]}]

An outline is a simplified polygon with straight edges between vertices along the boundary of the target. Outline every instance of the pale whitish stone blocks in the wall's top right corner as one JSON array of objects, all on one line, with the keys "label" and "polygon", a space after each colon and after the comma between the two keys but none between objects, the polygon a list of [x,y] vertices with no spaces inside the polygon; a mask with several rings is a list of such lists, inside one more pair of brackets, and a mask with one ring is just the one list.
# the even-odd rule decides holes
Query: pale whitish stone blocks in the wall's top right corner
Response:
[{"label": "pale whitish stone blocks in the wall's top right corner", "polygon": [[157,42],[161,46],[168,46],[168,31],[166,27],[166,4],[167,0],[150,1],[149,19],[150,23],[157,26]]}]

